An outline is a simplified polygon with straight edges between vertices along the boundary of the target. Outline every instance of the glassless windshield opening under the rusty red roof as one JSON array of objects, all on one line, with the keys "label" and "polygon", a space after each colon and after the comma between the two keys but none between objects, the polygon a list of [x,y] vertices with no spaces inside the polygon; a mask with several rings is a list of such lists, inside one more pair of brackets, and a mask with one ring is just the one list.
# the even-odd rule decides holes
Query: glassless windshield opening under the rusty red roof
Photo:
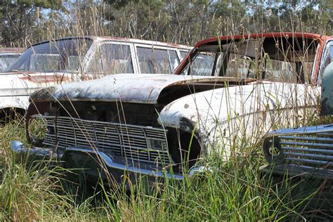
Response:
[{"label": "glassless windshield opening under the rusty red roof", "polygon": [[317,47],[313,39],[210,43],[197,49],[181,74],[310,82]]}]

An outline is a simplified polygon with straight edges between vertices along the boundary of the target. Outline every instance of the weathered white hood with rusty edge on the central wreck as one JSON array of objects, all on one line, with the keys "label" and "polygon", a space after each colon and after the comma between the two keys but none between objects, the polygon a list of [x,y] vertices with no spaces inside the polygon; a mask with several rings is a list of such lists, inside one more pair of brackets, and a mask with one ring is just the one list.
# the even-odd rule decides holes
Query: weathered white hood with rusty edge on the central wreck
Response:
[{"label": "weathered white hood with rusty edge on the central wreck", "polygon": [[32,94],[34,101],[122,101],[157,103],[163,89],[182,84],[218,84],[241,81],[226,77],[177,76],[171,74],[115,74],[102,79],[60,84]]}]

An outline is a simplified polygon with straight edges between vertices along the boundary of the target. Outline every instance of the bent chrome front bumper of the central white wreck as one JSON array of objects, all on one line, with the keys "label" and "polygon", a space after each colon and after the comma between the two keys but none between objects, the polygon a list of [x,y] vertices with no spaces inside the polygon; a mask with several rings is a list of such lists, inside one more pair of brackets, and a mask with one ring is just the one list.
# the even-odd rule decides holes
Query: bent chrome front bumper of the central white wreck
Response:
[{"label": "bent chrome front bumper of the central white wreck", "polygon": [[[138,162],[129,162],[122,157],[112,157],[112,155],[93,150],[92,148],[76,148],[70,147],[63,151],[54,152],[51,148],[27,148],[21,141],[12,141],[11,150],[16,158],[32,159],[57,159],[64,162],[67,166],[80,167],[84,169],[86,174],[93,177],[105,177],[111,174],[112,178],[118,183],[123,183],[122,178],[125,174],[129,174],[131,183],[135,183],[139,177],[148,178],[148,181],[156,182],[157,179],[165,180],[184,180],[185,178],[192,178],[207,171],[204,166],[195,167],[188,171],[187,174],[176,174],[170,172],[169,169],[157,170],[149,164],[142,164]],[[100,160],[103,163],[100,163]],[[100,168],[106,166],[107,173],[100,173]],[[103,167],[105,170],[105,167]]]}]

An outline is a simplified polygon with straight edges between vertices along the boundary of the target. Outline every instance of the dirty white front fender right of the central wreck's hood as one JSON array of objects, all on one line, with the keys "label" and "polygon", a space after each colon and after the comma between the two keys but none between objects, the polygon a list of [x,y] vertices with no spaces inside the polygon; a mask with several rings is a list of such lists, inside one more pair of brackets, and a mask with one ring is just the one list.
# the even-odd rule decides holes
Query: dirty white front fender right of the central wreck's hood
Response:
[{"label": "dirty white front fender right of the central wreck's hood", "polygon": [[294,125],[299,115],[315,110],[318,95],[318,89],[305,84],[259,82],[229,86],[166,105],[159,114],[159,124],[189,132],[195,129],[207,148],[203,151],[211,152],[218,150],[214,145],[218,140],[223,140],[220,148],[226,149],[226,143],[233,143],[237,137],[246,141],[249,136],[251,141],[261,138],[275,124]]}]

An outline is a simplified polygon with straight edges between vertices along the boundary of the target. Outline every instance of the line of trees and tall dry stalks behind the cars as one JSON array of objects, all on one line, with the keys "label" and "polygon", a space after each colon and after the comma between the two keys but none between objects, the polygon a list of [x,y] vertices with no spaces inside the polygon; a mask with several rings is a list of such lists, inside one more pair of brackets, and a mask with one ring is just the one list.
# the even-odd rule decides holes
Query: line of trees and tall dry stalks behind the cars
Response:
[{"label": "line of trees and tall dry stalks behind the cars", "polygon": [[2,0],[0,45],[98,35],[192,45],[254,32],[332,35],[332,0]]}]

